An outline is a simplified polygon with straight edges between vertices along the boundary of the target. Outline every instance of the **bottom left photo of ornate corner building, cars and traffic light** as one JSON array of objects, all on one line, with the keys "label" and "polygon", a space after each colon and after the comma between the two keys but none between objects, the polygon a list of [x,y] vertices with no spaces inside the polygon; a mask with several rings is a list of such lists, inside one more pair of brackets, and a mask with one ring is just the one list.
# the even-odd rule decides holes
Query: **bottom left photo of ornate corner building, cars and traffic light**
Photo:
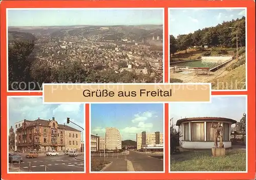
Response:
[{"label": "bottom left photo of ornate corner building, cars and traffic light", "polygon": [[84,172],[84,105],[8,97],[9,172]]}]

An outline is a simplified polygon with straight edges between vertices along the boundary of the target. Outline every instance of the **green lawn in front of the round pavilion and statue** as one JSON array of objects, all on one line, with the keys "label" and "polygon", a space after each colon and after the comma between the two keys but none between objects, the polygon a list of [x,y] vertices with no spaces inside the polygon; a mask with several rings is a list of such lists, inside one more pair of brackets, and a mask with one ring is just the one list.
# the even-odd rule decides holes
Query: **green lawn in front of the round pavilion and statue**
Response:
[{"label": "green lawn in front of the round pavilion and statue", "polygon": [[225,157],[212,157],[211,150],[184,151],[170,162],[170,171],[246,171],[246,151],[226,149]]}]

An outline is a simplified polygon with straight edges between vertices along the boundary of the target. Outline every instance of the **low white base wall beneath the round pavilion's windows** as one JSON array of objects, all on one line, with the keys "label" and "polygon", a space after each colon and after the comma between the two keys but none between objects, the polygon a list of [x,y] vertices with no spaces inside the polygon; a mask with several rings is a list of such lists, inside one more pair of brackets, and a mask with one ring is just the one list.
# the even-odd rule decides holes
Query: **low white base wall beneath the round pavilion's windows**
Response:
[{"label": "low white base wall beneath the round pavilion's windows", "polygon": [[[223,142],[224,148],[231,147],[231,141],[225,141]],[[218,142],[218,146],[220,143]],[[188,148],[188,149],[211,149],[214,147],[214,142],[205,142],[205,141],[182,141],[181,147]]]}]

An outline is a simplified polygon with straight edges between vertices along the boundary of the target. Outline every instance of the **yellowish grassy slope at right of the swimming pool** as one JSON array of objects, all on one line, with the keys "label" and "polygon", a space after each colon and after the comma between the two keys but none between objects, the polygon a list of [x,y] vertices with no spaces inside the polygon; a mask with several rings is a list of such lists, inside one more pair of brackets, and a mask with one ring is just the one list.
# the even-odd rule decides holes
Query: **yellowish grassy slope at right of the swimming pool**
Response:
[{"label": "yellowish grassy slope at right of the swimming pool", "polygon": [[229,71],[220,78],[211,82],[211,88],[217,90],[246,89],[246,66],[245,64]]}]

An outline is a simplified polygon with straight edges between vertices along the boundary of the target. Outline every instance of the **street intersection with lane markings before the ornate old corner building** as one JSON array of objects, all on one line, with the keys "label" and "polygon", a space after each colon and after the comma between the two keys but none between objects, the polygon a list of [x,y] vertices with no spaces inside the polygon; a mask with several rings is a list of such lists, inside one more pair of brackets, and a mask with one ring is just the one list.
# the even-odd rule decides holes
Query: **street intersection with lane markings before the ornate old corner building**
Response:
[{"label": "street intersection with lane markings before the ornate old corner building", "polygon": [[[49,156],[38,157],[34,159],[27,159],[24,155],[23,163],[13,163],[13,169],[20,168],[21,171],[84,171],[84,162],[76,160],[74,157],[69,156]],[[83,159],[83,156],[78,156],[78,159]],[[30,165],[30,166],[29,166]],[[11,170],[11,163],[9,163],[9,171]]]}]

